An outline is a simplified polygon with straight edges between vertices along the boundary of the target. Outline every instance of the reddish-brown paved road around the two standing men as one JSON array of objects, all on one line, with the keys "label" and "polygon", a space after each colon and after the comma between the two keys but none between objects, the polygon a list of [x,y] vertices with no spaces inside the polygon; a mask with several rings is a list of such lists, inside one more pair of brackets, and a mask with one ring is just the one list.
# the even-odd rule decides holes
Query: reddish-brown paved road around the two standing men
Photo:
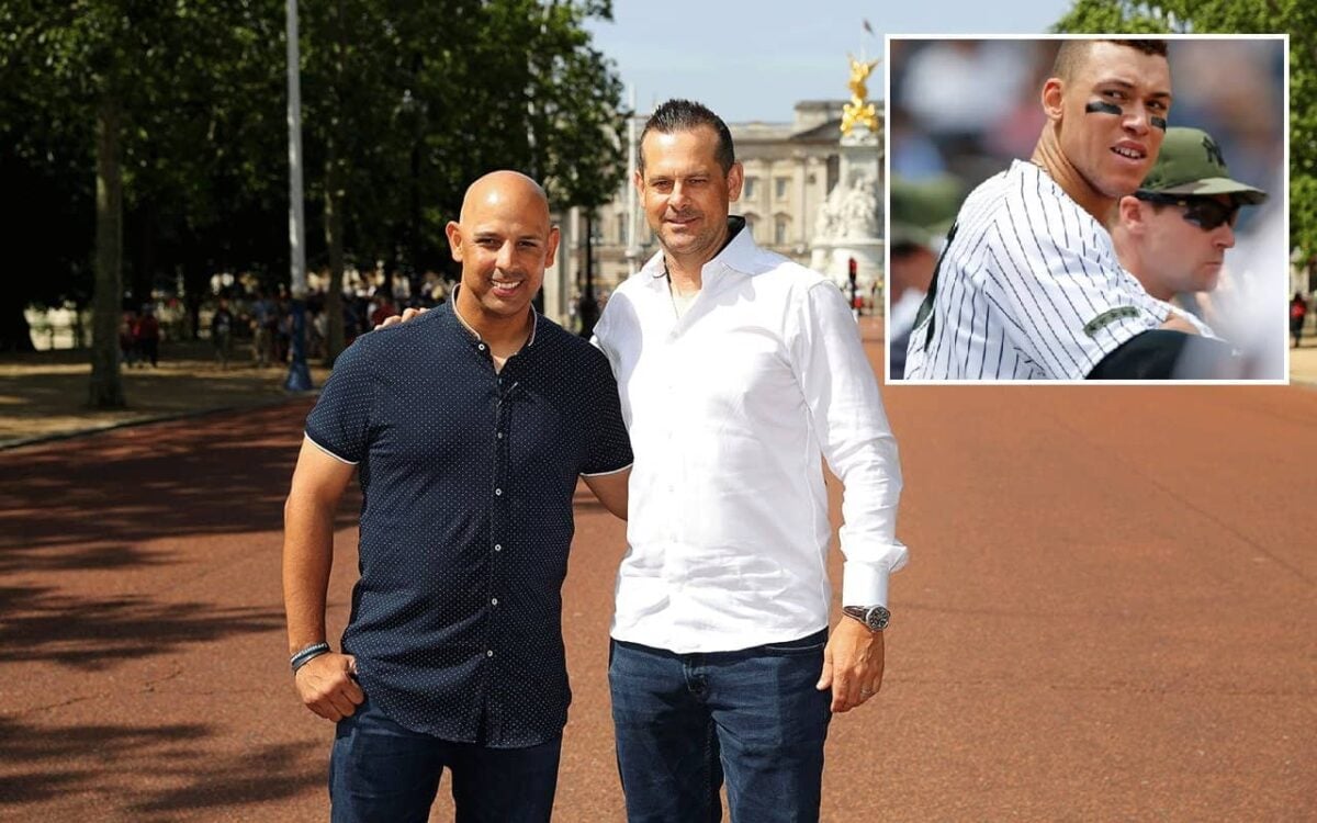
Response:
[{"label": "reddish-brown paved road around the two standing men", "polygon": [[[826,820],[1317,818],[1317,390],[886,400],[913,560],[882,695],[834,722]],[[325,819],[331,727],[295,702],[279,599],[306,411],[0,456],[0,819]],[[557,819],[619,820],[623,531],[578,503]]]}]

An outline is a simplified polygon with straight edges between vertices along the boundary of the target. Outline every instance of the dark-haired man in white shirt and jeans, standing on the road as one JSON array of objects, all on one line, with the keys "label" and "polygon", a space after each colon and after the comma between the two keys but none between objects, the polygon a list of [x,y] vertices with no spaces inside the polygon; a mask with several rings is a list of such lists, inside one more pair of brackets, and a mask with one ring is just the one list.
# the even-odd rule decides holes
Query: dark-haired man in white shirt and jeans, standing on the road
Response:
[{"label": "dark-haired man in white shirt and jeans, standing on the road", "polygon": [[[635,184],[662,250],[597,344],[636,456],[610,683],[627,814],[817,819],[834,711],[882,682],[901,471],[842,292],[728,219],[726,124],[670,100]],[[844,614],[828,635],[823,461],[844,486]]]}]

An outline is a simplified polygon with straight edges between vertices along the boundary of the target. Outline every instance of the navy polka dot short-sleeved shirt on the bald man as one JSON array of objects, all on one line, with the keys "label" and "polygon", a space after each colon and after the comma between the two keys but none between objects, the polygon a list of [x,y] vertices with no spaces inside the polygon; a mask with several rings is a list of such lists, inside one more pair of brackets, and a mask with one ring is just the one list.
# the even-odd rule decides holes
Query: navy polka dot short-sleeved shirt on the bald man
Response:
[{"label": "navy polka dot short-sleeved shirt on the bald man", "polygon": [[394,722],[520,748],[566,723],[561,589],[579,474],[631,464],[608,361],[543,316],[495,373],[445,303],[358,338],[307,437],[360,464],[345,653]]}]

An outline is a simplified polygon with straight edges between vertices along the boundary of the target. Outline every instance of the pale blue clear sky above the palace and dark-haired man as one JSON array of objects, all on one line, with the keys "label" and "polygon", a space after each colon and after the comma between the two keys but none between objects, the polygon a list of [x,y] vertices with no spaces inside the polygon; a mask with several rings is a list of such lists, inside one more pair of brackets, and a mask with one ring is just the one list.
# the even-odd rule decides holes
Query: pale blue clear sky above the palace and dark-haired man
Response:
[{"label": "pale blue clear sky above the palace and dark-haired man", "polygon": [[[595,45],[636,107],[705,103],[724,120],[786,122],[798,100],[846,99],[847,51],[882,57],[888,34],[1039,34],[1071,0],[614,0]],[[874,34],[864,30],[869,21]],[[881,70],[881,66],[880,68]],[[874,71],[869,96],[882,96]]]}]

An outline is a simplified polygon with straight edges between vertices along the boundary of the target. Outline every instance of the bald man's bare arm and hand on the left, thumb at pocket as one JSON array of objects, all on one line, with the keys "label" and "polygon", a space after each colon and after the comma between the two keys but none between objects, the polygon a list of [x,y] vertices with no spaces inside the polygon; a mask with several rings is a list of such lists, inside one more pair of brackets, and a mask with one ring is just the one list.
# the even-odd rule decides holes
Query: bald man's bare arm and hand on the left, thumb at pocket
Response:
[{"label": "bald man's bare arm and hand on the left, thumb at pocket", "polygon": [[[325,597],[333,566],[333,520],[356,466],[303,438],[292,489],[283,504],[283,606],[288,653],[325,640]],[[302,702],[327,720],[352,715],[365,699],[353,679],[356,660],[329,652],[294,674]]]}]

